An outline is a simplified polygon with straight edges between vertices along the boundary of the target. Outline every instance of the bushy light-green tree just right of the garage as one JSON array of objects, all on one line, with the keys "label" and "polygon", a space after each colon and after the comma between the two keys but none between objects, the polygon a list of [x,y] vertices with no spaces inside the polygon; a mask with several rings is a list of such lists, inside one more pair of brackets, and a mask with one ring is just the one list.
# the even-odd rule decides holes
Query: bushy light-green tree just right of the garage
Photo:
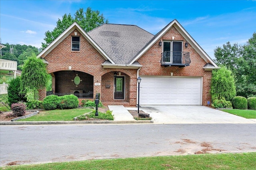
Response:
[{"label": "bushy light-green tree just right of the garage", "polygon": [[224,97],[226,100],[230,101],[236,96],[235,81],[231,73],[232,72],[225,67],[212,71],[210,89],[212,98],[216,97],[220,100]]}]

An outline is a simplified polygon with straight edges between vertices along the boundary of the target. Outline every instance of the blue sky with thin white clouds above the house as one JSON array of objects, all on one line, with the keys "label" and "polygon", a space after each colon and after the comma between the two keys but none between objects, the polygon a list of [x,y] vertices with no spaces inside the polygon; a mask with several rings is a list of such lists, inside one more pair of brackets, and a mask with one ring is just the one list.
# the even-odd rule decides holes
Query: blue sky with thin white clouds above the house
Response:
[{"label": "blue sky with thin white clouds above the house", "polygon": [[176,19],[212,58],[217,46],[243,45],[256,32],[256,0],[0,0],[0,38],[39,48],[58,18],[87,7],[110,24],[137,25],[152,34]]}]

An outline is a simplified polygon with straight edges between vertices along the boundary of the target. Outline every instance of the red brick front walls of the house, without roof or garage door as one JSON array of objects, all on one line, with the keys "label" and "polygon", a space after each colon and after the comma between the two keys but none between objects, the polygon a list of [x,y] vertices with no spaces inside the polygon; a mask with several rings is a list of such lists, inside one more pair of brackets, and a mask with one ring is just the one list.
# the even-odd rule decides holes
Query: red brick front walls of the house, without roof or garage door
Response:
[{"label": "red brick front walls of the house, without roof or garage door", "polygon": [[[86,93],[92,89],[94,97],[96,93],[100,93],[100,100],[103,103],[136,105],[138,69],[103,68],[101,64],[106,59],[79,32],[77,36],[80,36],[80,51],[71,51],[71,37],[75,35],[74,32],[78,30],[74,30],[44,57],[48,61],[48,73],[53,76],[53,91],[64,93],[71,90],[83,90]],[[162,47],[158,45],[158,40],[137,60],[142,65],[139,75],[170,76],[172,72],[174,76],[203,77],[202,105],[206,105],[206,102],[211,99],[209,93],[211,71],[204,71],[203,66],[206,61],[190,44],[187,48],[184,46],[186,40],[176,28],[170,28],[160,40],[173,40],[172,37],[174,40],[183,42],[183,51],[190,52],[190,66],[161,67]],[[114,72],[121,72],[120,76],[125,77],[125,99],[114,99]],[[76,74],[82,79],[78,87],[72,82]],[[95,85],[95,83],[100,83],[100,85]],[[40,90],[40,99],[42,100],[45,96],[45,90]]]}]

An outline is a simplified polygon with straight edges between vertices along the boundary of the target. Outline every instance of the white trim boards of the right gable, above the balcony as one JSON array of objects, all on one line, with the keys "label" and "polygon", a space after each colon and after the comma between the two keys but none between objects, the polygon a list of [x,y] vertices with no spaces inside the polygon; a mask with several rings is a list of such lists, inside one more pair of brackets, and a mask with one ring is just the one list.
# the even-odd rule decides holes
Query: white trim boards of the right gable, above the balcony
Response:
[{"label": "white trim boards of the right gable, above the balcony", "polygon": [[177,20],[173,20],[170,22],[166,27],[164,27],[160,32],[158,32],[152,40],[146,44],[144,48],[141,49],[141,51],[134,57],[129,64],[134,63],[136,60],[138,60],[154,43],[156,43],[164,34],[170,30],[170,28],[175,27],[178,32],[190,43],[190,45],[196,50],[196,52],[206,61],[206,63],[210,63],[214,67],[218,67],[218,65],[210,58],[210,56],[198,45],[198,43],[186,32],[186,30],[180,25],[180,23]]}]

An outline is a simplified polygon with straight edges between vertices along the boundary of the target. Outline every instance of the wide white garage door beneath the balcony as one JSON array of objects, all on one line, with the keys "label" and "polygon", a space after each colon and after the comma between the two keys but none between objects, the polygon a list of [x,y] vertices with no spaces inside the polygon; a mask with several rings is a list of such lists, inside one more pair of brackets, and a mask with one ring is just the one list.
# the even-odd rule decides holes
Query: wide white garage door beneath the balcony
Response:
[{"label": "wide white garage door beneath the balcony", "polygon": [[140,105],[202,105],[202,77],[141,77]]}]

